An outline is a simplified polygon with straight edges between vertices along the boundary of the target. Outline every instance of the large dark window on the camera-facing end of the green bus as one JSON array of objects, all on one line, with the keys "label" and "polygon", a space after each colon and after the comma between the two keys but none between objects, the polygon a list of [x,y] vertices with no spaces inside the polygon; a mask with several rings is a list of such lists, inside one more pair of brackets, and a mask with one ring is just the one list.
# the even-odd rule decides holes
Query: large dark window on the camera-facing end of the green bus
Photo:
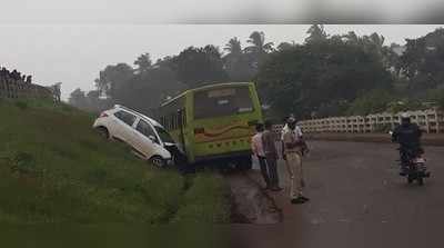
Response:
[{"label": "large dark window on the camera-facing end of the green bus", "polygon": [[194,93],[194,119],[252,112],[249,87],[225,87]]}]

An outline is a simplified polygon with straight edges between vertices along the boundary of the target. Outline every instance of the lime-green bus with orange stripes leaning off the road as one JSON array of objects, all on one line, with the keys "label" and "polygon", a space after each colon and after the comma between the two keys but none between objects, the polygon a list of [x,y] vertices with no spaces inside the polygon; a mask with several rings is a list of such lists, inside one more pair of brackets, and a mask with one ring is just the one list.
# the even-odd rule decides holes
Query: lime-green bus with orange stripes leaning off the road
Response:
[{"label": "lime-green bus with orange stripes leaning off the road", "polygon": [[219,160],[251,168],[251,137],[263,118],[254,83],[228,82],[186,90],[164,102],[159,115],[188,162]]}]

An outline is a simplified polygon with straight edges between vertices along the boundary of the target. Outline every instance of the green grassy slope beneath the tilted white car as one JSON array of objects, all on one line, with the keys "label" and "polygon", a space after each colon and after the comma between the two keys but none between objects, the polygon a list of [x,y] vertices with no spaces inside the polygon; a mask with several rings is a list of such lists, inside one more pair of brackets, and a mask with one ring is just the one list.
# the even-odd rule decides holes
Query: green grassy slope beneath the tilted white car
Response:
[{"label": "green grassy slope beneath the tilted white car", "polygon": [[228,221],[221,178],[155,169],[103,140],[92,115],[1,99],[0,115],[0,222]]}]

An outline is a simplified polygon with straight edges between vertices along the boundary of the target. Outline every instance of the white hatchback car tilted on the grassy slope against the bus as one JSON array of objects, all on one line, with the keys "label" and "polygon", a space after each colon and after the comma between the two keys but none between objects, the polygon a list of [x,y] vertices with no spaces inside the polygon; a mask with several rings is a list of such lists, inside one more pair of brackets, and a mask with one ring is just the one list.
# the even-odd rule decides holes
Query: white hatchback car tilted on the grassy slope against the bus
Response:
[{"label": "white hatchback car tilted on the grassy slope against the bus", "polygon": [[93,128],[107,138],[128,143],[139,157],[157,167],[173,163],[174,140],[159,122],[142,113],[117,105],[103,111]]}]

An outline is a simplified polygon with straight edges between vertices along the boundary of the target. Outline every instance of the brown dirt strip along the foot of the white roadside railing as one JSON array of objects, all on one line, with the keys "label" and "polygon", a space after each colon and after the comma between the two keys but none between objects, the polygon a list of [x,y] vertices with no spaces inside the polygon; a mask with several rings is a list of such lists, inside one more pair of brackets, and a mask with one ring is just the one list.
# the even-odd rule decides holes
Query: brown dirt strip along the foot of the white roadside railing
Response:
[{"label": "brown dirt strip along the foot of the white roadside railing", "polygon": [[[353,141],[353,142],[391,142],[389,133],[306,133],[307,140],[325,140],[325,141]],[[424,133],[422,137],[424,146],[444,146],[444,133]]]}]

